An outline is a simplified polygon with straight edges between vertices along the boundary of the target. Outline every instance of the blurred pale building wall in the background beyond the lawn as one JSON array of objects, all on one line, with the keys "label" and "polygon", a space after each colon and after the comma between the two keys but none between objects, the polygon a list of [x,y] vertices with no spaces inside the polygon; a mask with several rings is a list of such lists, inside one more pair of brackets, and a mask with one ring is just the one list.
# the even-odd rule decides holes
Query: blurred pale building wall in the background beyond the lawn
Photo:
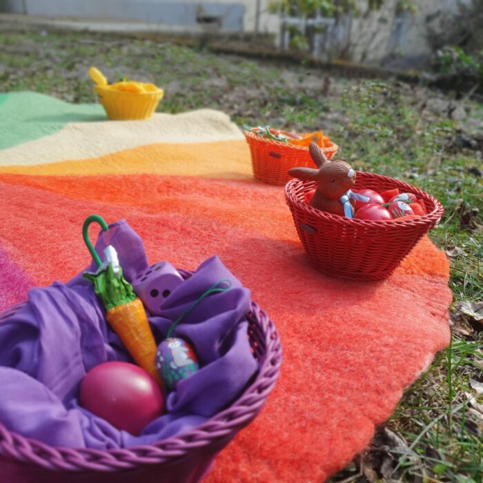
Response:
[{"label": "blurred pale building wall in the background beyond the lawn", "polygon": [[437,26],[442,15],[457,10],[462,0],[413,0],[415,12],[400,9],[399,0],[384,0],[382,8],[371,11],[367,0],[357,1],[361,14],[337,21],[272,14],[270,0],[0,0],[0,12],[156,23],[186,32],[212,24],[220,32],[273,34],[282,48],[289,48],[293,28],[308,32],[315,22],[319,32],[311,35],[310,49],[318,57],[374,63],[406,59],[411,64],[431,51],[428,26]]}]

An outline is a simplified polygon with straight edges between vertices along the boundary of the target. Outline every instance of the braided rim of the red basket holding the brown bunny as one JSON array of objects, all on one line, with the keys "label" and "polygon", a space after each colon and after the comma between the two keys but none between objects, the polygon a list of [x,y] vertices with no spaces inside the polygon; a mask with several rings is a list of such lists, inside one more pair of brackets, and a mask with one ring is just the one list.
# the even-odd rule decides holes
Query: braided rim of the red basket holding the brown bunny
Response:
[{"label": "braided rim of the red basket holding the brown bunny", "polygon": [[327,213],[325,211],[317,210],[312,206],[309,206],[308,203],[304,200],[297,198],[293,191],[299,186],[304,186],[304,188],[308,188],[307,190],[313,189],[316,186],[315,181],[302,181],[300,179],[294,178],[290,179],[288,183],[285,185],[285,196],[287,204],[294,204],[301,208],[302,210],[306,211],[307,213],[311,213],[311,215],[315,216],[318,219],[331,221],[332,223],[337,223],[345,226],[359,226],[359,227],[372,227],[372,228],[393,228],[397,229],[404,226],[412,226],[412,225],[428,225],[433,224],[440,220],[444,213],[444,208],[440,201],[437,201],[434,197],[429,195],[428,193],[420,190],[420,188],[416,188],[415,186],[405,183],[404,181],[400,181],[399,179],[391,178],[385,175],[376,175],[372,172],[366,171],[357,171],[357,175],[361,177],[372,177],[373,179],[377,179],[383,182],[391,182],[398,184],[401,188],[408,190],[411,193],[415,193],[420,198],[429,201],[433,205],[433,210],[431,212],[426,213],[426,215],[422,215],[420,218],[414,219],[388,219],[388,220],[366,220],[366,219],[357,219],[357,218],[347,218],[340,215],[335,215],[333,213]]}]

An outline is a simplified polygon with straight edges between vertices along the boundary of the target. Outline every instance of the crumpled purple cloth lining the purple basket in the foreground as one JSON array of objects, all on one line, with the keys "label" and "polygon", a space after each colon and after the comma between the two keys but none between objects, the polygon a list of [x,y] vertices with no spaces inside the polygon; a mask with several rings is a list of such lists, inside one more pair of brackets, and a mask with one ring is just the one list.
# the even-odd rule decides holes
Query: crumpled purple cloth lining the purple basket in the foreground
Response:
[{"label": "crumpled purple cloth lining the purple basket in the foreground", "polygon": [[[129,281],[147,268],[141,239],[126,221],[100,233],[97,253],[102,255],[108,244],[116,248]],[[87,270],[95,271],[94,264]],[[159,344],[172,322],[202,293],[221,279],[230,280],[230,290],[208,295],[173,334],[190,341],[200,370],[179,382],[166,400],[167,413],[141,435],[119,431],[77,400],[79,384],[91,368],[112,360],[130,361],[82,273],[68,284],[33,288],[28,303],[0,324],[0,422],[10,431],[51,446],[113,449],[152,444],[188,431],[228,406],[257,371],[245,318],[250,291],[212,257],[172,291],[161,316],[150,317]]]}]

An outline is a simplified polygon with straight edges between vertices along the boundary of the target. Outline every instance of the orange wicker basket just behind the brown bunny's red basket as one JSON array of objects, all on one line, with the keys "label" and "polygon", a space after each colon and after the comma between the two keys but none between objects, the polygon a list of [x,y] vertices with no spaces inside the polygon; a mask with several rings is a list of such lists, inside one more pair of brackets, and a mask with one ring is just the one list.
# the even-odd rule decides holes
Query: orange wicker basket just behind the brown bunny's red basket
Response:
[{"label": "orange wicker basket just behind the brown bunny's red basket", "polygon": [[[266,139],[247,130],[245,137],[252,155],[253,175],[259,181],[284,186],[292,179],[287,173],[290,168],[315,167],[308,148]],[[331,143],[322,151],[331,159],[338,149],[337,144]]]}]

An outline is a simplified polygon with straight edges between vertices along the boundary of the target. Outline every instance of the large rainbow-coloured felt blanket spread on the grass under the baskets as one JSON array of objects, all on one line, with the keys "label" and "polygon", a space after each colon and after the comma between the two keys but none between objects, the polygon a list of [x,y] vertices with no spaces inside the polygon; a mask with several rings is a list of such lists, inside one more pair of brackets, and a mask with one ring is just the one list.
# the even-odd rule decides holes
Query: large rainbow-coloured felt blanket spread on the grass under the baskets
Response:
[{"label": "large rainbow-coloured felt blanket spread on the grass under the baskets", "polygon": [[[106,121],[101,106],[0,95],[0,310],[89,262],[92,213],[125,218],[150,262],[219,255],[275,321],[284,363],[262,413],[208,482],[320,482],[371,441],[449,342],[449,264],[425,237],[383,282],[308,264],[283,188],[251,172],[221,112]],[[60,240],[60,242],[59,242]]]}]

